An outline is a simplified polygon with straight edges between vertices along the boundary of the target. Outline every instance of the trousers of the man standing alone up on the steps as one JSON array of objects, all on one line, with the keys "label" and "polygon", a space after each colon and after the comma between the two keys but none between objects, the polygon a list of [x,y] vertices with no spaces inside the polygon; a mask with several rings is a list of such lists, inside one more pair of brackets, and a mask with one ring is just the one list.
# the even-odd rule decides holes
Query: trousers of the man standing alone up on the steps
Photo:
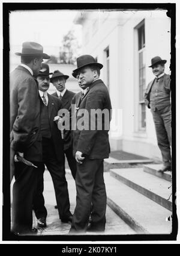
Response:
[{"label": "trousers of the man standing alone up on the steps", "polygon": [[164,166],[171,164],[171,107],[168,106],[162,110],[151,110],[154,119],[155,131],[158,147],[160,148]]}]

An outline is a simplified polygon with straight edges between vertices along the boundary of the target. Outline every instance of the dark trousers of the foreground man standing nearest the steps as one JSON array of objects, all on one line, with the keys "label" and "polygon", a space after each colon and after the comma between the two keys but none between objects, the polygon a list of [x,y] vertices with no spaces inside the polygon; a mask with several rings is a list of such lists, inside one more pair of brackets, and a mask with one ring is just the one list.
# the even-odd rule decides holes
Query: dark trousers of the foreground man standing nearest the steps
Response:
[{"label": "dark trousers of the foreground man standing nearest the steps", "polygon": [[86,232],[90,213],[91,225],[97,231],[104,231],[107,198],[103,169],[103,160],[85,158],[82,164],[77,164],[76,208],[70,233]]}]

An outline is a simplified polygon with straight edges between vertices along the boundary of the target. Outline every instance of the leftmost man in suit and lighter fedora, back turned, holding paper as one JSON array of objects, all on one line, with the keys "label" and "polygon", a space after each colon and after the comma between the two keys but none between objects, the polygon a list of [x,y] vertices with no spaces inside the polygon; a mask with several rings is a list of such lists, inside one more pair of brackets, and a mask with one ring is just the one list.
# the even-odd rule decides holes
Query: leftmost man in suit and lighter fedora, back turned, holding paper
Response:
[{"label": "leftmost man in suit and lighter fedora, back turned, holding paper", "polygon": [[32,234],[32,200],[37,186],[38,170],[20,161],[20,155],[35,166],[42,160],[40,133],[40,98],[38,75],[43,58],[43,47],[35,42],[22,45],[21,64],[10,74],[10,141],[11,179],[13,175],[12,232]]}]

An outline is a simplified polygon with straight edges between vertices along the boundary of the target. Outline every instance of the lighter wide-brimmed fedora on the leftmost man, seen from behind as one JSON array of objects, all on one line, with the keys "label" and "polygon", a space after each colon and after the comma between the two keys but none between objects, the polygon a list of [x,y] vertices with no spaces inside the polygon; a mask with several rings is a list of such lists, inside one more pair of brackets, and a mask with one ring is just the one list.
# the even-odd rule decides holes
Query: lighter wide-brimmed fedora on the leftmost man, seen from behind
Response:
[{"label": "lighter wide-brimmed fedora on the leftmost man, seen from behind", "polygon": [[15,52],[19,56],[42,56],[50,58],[49,55],[43,53],[43,46],[35,42],[24,42],[22,44],[22,52]]}]

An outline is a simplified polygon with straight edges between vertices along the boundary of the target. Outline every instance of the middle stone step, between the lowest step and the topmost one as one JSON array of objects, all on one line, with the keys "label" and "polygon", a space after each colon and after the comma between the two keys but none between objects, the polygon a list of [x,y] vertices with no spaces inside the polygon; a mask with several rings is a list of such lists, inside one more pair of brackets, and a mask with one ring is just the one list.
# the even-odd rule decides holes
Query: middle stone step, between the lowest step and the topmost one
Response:
[{"label": "middle stone step, between the lowest step and the topmost one", "polygon": [[[172,211],[172,196],[170,196],[172,187],[170,187],[171,183],[169,181],[145,173],[142,168],[111,169],[110,175],[167,210]],[[170,188],[168,189],[168,187]],[[170,199],[167,200],[169,196]]]}]

